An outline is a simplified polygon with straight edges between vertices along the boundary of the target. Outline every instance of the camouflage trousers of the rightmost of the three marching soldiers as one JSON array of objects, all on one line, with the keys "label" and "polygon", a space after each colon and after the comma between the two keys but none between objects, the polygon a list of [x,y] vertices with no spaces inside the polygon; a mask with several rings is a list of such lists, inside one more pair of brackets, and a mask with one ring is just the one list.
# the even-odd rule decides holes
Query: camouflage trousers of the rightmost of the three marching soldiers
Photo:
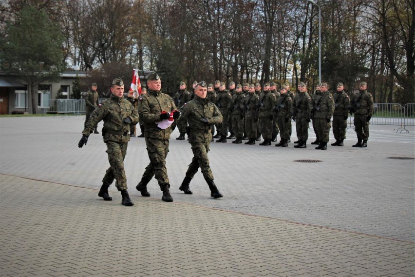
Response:
[{"label": "camouflage trousers of the rightmost of the three marching soldiers", "polygon": [[189,142],[191,144],[191,150],[193,151],[193,158],[189,164],[188,170],[186,171],[187,177],[193,178],[200,167],[203,178],[205,178],[206,181],[213,180],[213,173],[210,170],[209,158],[207,157],[211,139],[212,134],[210,133],[190,133]]}]

